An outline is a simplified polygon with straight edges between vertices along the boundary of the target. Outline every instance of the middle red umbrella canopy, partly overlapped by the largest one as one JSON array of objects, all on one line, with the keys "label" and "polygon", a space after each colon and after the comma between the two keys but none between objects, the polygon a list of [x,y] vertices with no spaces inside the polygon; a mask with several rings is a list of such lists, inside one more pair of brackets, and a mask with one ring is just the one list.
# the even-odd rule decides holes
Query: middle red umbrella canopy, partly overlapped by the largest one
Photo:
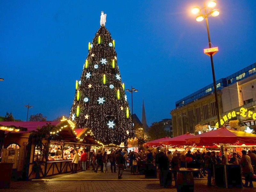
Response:
[{"label": "middle red umbrella canopy, partly overlapped by the largest one", "polygon": [[195,137],[195,135],[186,133],[177,137],[161,140],[159,141],[159,143],[164,145],[170,145],[170,146],[182,146],[182,145],[184,146],[184,145],[187,145],[186,139],[193,138],[193,137]]}]

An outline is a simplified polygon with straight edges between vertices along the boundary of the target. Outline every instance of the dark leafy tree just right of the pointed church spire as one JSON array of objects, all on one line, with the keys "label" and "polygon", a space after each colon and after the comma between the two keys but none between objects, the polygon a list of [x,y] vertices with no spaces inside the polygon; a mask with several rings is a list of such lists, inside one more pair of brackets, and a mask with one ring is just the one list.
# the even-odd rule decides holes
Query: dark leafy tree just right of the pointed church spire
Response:
[{"label": "dark leafy tree just right of the pointed church spire", "polygon": [[149,140],[156,140],[168,137],[168,132],[164,130],[164,123],[154,122],[148,129]]}]

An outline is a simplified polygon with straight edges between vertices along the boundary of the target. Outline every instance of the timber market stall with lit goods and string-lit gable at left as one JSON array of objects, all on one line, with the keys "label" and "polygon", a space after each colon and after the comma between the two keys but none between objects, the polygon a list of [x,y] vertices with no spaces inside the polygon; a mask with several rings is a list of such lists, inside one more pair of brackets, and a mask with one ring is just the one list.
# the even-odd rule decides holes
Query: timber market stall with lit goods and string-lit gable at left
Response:
[{"label": "timber market stall with lit goods and string-lit gable at left", "polygon": [[[67,119],[42,122],[1,122],[2,126],[25,127],[6,132],[2,162],[17,161],[15,178],[33,179],[72,170],[75,150],[89,147],[76,136],[75,124]],[[13,152],[14,155],[12,155]],[[17,154],[17,155],[16,155]],[[80,162],[78,170],[81,168]]]}]

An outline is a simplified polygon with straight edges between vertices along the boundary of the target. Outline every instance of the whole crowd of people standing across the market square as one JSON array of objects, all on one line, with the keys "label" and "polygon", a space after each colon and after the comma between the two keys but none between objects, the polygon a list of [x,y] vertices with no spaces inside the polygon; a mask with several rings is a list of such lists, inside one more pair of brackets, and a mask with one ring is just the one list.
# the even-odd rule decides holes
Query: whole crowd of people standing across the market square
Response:
[{"label": "whole crowd of people standing across the market square", "polygon": [[[73,173],[77,172],[77,164],[79,156],[78,151],[75,151],[72,163],[74,164]],[[81,151],[81,164],[82,171],[86,170],[87,153],[85,150]],[[229,154],[228,154],[229,155]],[[92,166],[92,171],[98,172],[108,172],[107,164],[110,162],[110,171],[116,173],[117,168],[117,178],[122,179],[123,171],[129,170],[131,174],[139,174],[140,166],[143,163],[154,164],[156,168],[160,170],[160,183],[166,187],[170,185],[170,173],[168,173],[169,168],[172,170],[172,175],[174,180],[177,180],[177,171],[180,167],[187,168],[199,168],[200,171],[194,174],[194,177],[204,178],[207,176],[207,185],[212,185],[212,177],[214,177],[214,166],[217,164],[225,164],[226,159],[221,156],[220,152],[206,151],[197,149],[195,152],[188,151],[178,151],[175,150],[173,153],[171,151],[166,153],[164,149],[161,149],[159,153],[152,152],[151,150],[140,150],[140,152],[127,151],[127,149],[116,149],[112,150],[109,154],[107,151],[99,150],[97,153],[92,149],[90,153],[90,165]],[[248,150],[242,150],[241,152],[233,152],[232,157],[229,158],[229,164],[241,164],[242,171],[245,177],[244,187],[253,188],[253,168],[256,165],[256,150],[252,147]],[[89,167],[89,166],[88,166]],[[169,175],[168,175],[169,174]],[[168,177],[167,177],[168,175]],[[248,186],[249,184],[249,186]],[[176,183],[175,183],[176,185]]]}]

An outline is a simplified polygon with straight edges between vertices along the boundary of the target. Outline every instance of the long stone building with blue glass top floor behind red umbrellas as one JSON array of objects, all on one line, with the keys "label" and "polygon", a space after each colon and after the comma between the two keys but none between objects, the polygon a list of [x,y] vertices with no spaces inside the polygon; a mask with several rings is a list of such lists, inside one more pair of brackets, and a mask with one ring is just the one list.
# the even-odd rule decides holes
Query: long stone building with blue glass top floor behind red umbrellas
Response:
[{"label": "long stone building with blue glass top floor behind red umbrellas", "polygon": [[[238,119],[255,125],[252,114],[256,105],[256,63],[216,81],[221,125]],[[217,123],[213,83],[176,101],[171,111],[173,136],[195,133],[195,126]]]}]

